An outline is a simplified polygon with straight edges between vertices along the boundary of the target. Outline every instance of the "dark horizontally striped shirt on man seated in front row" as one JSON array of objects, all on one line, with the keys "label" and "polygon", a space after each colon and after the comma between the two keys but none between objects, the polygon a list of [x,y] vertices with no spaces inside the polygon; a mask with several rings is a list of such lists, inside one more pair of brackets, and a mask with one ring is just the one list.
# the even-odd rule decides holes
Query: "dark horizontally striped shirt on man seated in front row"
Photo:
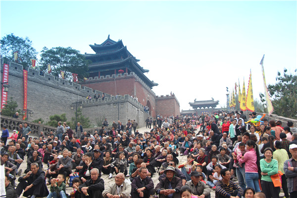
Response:
[{"label": "dark horizontally striped shirt on man seated in front row", "polygon": [[220,197],[230,198],[235,190],[238,190],[238,194],[236,196],[239,196],[241,198],[244,194],[242,188],[240,188],[233,181],[229,181],[229,185],[227,185],[224,184],[223,180],[220,180],[215,184],[215,198],[218,198],[219,195]]}]

